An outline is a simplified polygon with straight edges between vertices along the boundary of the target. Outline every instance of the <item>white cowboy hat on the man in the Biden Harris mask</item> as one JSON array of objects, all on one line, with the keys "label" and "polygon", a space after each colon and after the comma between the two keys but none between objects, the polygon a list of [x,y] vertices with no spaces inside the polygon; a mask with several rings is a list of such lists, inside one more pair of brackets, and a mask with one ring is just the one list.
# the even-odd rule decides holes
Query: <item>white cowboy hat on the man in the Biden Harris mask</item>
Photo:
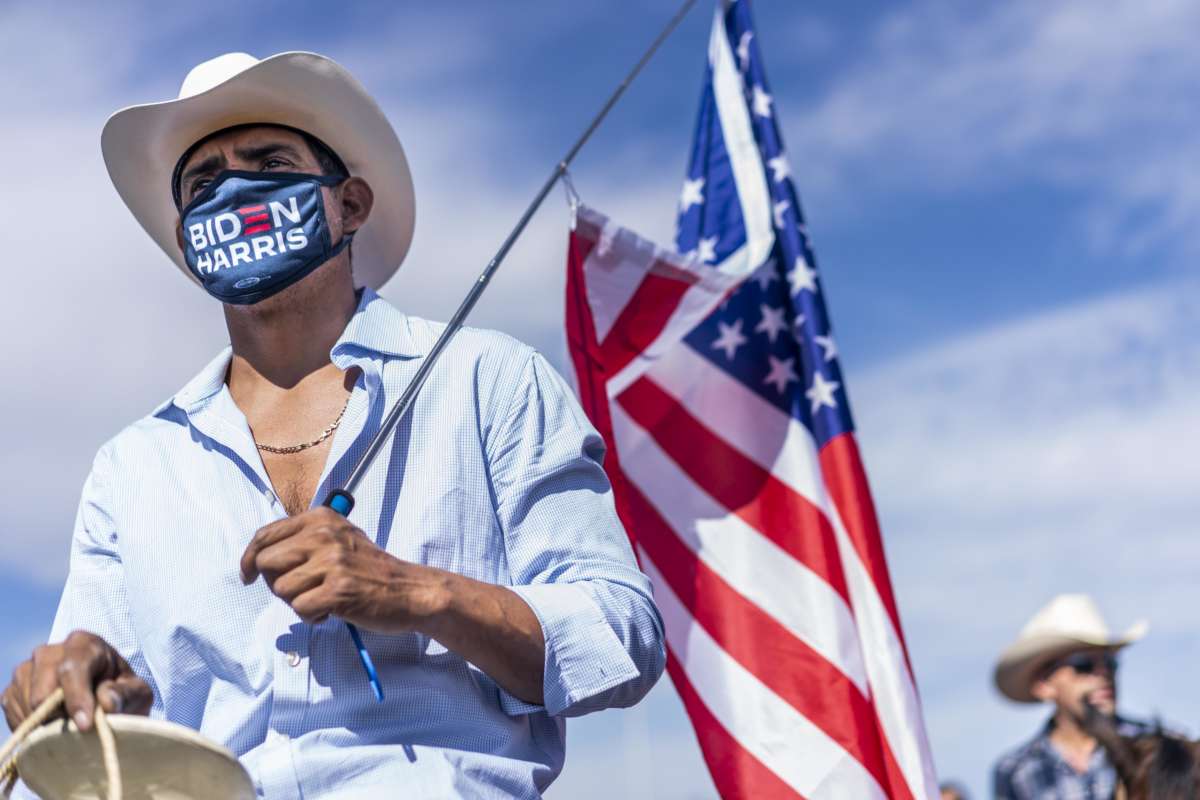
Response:
[{"label": "white cowboy hat on the man in the Biden Harris mask", "polygon": [[354,236],[354,273],[378,289],[413,241],[413,179],[388,118],[341,65],[316,53],[259,61],[226,53],[194,67],[179,97],[113,114],[101,134],[104,164],[133,216],[188,278],[175,240],[175,163],[194,143],[251,122],[287,125],[324,142],[374,191],[371,218]]}]

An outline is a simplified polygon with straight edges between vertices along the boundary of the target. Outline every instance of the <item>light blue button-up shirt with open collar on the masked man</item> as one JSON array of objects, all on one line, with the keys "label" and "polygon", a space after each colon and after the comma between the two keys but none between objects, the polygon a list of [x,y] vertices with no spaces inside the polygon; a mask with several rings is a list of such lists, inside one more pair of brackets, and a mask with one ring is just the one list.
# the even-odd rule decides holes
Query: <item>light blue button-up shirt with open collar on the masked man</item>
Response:
[{"label": "light blue button-up shirt with open collar on the masked man", "polygon": [[[370,289],[330,353],[359,367],[314,498],[341,486],[442,325]],[[306,625],[238,563],[286,516],[224,384],[229,350],[106,444],[84,487],[50,634],[104,637],[152,716],[233,750],[259,796],[534,798],[563,766],[564,717],[636,703],[662,626],[600,467],[604,445],[545,360],[461,331],[371,467],[350,521],[396,558],[510,587],[546,639],[545,705],[427,636]]]}]

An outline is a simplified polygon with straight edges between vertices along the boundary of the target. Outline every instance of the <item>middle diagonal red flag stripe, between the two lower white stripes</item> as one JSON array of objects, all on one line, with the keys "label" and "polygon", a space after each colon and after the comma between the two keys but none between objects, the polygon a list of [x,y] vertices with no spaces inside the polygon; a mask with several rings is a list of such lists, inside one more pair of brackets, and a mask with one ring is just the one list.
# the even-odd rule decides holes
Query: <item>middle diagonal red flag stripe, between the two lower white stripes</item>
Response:
[{"label": "middle diagonal red flag stripe, between the two lower white stripes", "polygon": [[887,786],[875,709],[853,681],[726,583],[679,541],[631,481],[626,486],[637,543],[692,619],[730,657]]}]

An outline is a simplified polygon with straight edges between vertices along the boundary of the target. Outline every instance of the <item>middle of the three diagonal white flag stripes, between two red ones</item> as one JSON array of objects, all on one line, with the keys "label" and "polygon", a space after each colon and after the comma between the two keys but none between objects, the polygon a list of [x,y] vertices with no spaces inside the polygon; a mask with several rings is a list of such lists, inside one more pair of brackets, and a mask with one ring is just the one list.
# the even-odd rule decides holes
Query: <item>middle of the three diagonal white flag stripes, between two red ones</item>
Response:
[{"label": "middle of the three diagonal white flag stripes, between two red ones", "polygon": [[[618,403],[612,405],[612,426],[622,471],[680,541],[738,594],[812,648],[868,696],[866,668],[854,618],[845,600],[812,570],[697,486]],[[780,591],[784,587],[786,590]]]}]

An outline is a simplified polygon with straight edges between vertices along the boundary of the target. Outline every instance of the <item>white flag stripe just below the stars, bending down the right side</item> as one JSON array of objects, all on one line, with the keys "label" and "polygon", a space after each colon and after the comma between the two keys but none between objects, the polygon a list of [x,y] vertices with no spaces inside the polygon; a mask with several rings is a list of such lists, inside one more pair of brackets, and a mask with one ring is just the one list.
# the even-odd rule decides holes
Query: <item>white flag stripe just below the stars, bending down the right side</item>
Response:
[{"label": "white flag stripe just below the stars, bending down the right side", "polygon": [[647,377],[727,444],[769,470],[829,518],[850,588],[859,651],[865,660],[880,727],[913,796],[931,796],[929,787],[936,787],[937,781],[924,726],[912,723],[922,718],[920,704],[899,632],[826,491],[816,443],[808,428],[686,344],[673,348]]}]

